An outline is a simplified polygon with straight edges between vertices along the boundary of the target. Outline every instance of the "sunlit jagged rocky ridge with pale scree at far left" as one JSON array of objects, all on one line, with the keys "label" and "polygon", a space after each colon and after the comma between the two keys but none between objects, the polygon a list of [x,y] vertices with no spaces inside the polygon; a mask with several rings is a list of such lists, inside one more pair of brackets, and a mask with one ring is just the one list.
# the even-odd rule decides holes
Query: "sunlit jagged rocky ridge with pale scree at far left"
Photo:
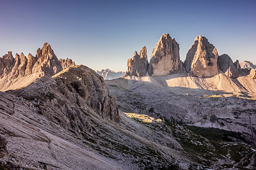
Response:
[{"label": "sunlit jagged rocky ridge with pale scree at far left", "polygon": [[71,59],[58,60],[51,46],[44,43],[42,49],[38,48],[36,57],[24,53],[16,54],[13,58],[12,52],[0,57],[0,90],[17,89],[29,85],[42,76],[53,76],[66,67],[75,66]]}]

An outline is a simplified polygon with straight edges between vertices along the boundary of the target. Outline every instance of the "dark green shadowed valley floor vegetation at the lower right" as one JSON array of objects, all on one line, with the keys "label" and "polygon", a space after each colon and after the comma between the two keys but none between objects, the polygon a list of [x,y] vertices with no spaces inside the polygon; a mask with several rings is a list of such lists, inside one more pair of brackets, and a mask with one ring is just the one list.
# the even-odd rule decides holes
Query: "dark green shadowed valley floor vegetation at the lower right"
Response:
[{"label": "dark green shadowed valley floor vegetation at the lower right", "polygon": [[[216,169],[248,169],[255,162],[256,148],[245,143],[232,142],[230,138],[243,141],[239,132],[224,131],[214,128],[202,128],[189,125],[178,125],[167,122],[173,136],[179,141],[187,155],[205,167],[220,164]],[[235,166],[236,164],[236,166]],[[190,169],[201,169],[191,166]],[[204,169],[204,168],[203,168]]]}]

